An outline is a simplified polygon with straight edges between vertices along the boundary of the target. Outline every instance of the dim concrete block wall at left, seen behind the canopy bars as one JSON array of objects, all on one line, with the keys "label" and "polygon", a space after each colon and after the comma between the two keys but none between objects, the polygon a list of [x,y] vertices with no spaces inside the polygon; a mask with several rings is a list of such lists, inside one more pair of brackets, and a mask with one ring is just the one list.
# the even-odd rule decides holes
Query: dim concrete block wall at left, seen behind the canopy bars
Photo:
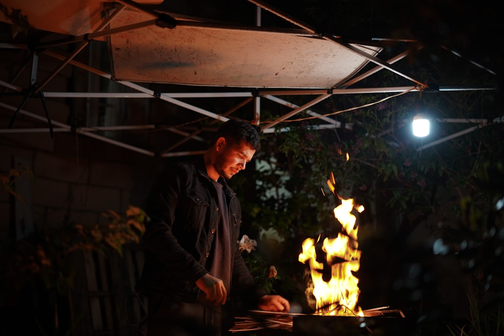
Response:
[{"label": "dim concrete block wall at left, seen behind the canopy bars", "polygon": [[[58,53],[67,54],[67,48],[73,50],[73,47],[63,45]],[[97,63],[102,61],[104,51],[106,47],[101,43],[91,43],[75,59],[87,62],[89,55],[92,55],[92,62]],[[28,65],[25,62],[32,59],[31,55],[29,50],[6,49],[0,54],[0,63],[5,65],[0,66],[0,78],[13,79],[15,86],[28,88],[33,69],[30,69],[30,62],[26,63]],[[35,80],[42,83],[53,74],[61,61],[44,53],[37,55]],[[99,76],[90,77],[88,72],[67,65],[51,78],[43,91],[81,92],[88,87],[96,91],[104,90],[100,83],[102,79]],[[0,128],[7,127],[23,99],[22,94],[2,98],[0,124],[3,126]],[[88,121],[88,125],[100,124],[98,119],[103,102],[98,99],[88,101],[82,98],[46,97],[45,101],[53,125],[55,122],[67,123],[73,118],[80,123]],[[107,102],[112,103],[116,101]],[[141,100],[135,108],[143,111],[147,104]],[[116,108],[121,109],[122,113],[128,111],[127,106],[117,105]],[[145,117],[147,114],[139,115]],[[119,116],[123,117],[122,114]],[[130,204],[142,207],[152,178],[158,172],[155,167],[162,164],[142,154],[71,132],[56,131],[54,138],[51,138],[39,97],[26,101],[14,119],[12,128],[13,131],[23,128],[34,131],[0,134],[0,175],[7,175],[13,167],[27,166],[33,171],[35,179],[26,182],[24,180],[27,177],[23,177],[23,183],[20,180],[25,203],[16,201],[5,190],[0,190],[0,239],[6,237],[9,230],[12,231],[10,226],[13,221],[18,222],[16,225],[33,222],[39,229],[58,227],[66,221],[92,224],[100,221],[100,214],[104,211],[124,213]],[[54,128],[58,126],[54,125]],[[12,211],[14,204],[16,212]],[[28,225],[25,233],[29,231]]]}]

